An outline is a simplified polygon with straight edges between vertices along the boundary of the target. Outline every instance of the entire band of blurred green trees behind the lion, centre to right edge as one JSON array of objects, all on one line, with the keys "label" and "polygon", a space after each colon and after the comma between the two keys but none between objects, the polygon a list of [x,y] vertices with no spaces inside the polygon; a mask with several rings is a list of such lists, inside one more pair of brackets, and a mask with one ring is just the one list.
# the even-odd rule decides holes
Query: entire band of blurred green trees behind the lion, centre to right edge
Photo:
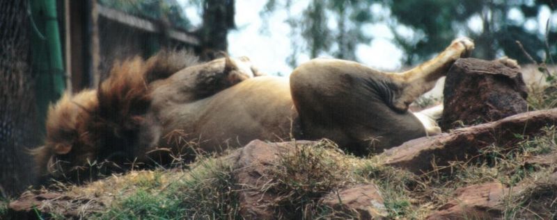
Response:
[{"label": "entire band of blurred green trees behind the lion, centre to right edge", "polygon": [[[291,6],[291,0],[268,0],[262,17],[281,7],[290,10]],[[381,13],[370,9],[377,7],[381,8]],[[554,3],[540,0],[313,0],[301,15],[291,14],[287,21],[293,30],[290,35],[295,48],[289,63],[295,66],[296,56],[304,52],[311,58],[327,54],[356,60],[356,45],[370,41],[370,36],[364,34],[366,24],[386,24],[391,28],[393,42],[406,54],[403,60],[406,65],[430,58],[458,35],[468,35],[476,41],[474,53],[478,58],[494,59],[504,53],[521,63],[531,62],[525,50],[535,60],[545,60],[549,58],[547,54],[557,54],[557,45],[548,43],[557,40],[557,31],[550,30],[549,22],[538,23],[543,7],[554,8]],[[510,17],[511,13],[515,17]],[[476,27],[469,25],[473,21]],[[336,26],[329,25],[331,23]],[[538,28],[532,29],[532,26]],[[547,26],[546,35],[538,31],[542,26]],[[298,42],[298,36],[305,44]]]}]

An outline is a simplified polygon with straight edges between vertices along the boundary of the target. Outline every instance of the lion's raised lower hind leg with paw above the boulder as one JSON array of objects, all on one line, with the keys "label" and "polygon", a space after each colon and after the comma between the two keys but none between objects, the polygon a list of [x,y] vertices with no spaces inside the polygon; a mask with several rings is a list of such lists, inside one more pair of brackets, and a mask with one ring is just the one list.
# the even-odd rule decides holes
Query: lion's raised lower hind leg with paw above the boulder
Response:
[{"label": "lion's raised lower hind leg with paw above the boulder", "polygon": [[407,110],[410,103],[431,90],[437,79],[446,75],[450,66],[458,58],[470,56],[473,49],[474,43],[468,37],[457,38],[445,51],[432,60],[409,71],[391,75],[395,81],[400,83],[402,89],[400,96],[393,102],[394,108]]}]

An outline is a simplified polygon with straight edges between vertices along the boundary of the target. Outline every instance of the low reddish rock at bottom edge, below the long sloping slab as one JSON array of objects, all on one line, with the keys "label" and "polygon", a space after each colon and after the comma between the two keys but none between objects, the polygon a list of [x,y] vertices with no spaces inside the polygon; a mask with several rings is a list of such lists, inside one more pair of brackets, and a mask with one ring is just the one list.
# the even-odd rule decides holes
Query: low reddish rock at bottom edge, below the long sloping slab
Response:
[{"label": "low reddish rock at bottom edge, below the long sloping slab", "polygon": [[485,183],[456,189],[454,199],[427,219],[497,219],[501,218],[503,198],[511,190],[501,183]]}]

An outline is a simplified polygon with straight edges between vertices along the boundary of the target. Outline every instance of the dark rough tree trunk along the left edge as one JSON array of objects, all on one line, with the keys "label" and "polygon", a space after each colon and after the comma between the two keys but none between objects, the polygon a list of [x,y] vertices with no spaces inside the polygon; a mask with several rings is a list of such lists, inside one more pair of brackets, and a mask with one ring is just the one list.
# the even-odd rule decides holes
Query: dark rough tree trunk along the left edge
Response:
[{"label": "dark rough tree trunk along the left edge", "polygon": [[0,1],[0,197],[31,183],[26,149],[38,144],[33,76],[29,65],[28,1]]}]

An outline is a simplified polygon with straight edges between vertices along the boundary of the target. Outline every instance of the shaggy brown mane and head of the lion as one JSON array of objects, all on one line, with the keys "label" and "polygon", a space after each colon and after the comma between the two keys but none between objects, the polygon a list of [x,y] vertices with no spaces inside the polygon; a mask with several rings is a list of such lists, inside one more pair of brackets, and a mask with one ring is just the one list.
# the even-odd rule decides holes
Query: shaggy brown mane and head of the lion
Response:
[{"label": "shaggy brown mane and head of the lion", "polygon": [[97,160],[111,144],[120,145],[113,150],[125,148],[121,144],[133,141],[129,135],[143,124],[150,105],[148,84],[197,63],[187,51],[162,51],[148,60],[135,57],[116,63],[98,90],[65,94],[49,108],[45,145],[31,150],[38,172],[59,176]]}]

